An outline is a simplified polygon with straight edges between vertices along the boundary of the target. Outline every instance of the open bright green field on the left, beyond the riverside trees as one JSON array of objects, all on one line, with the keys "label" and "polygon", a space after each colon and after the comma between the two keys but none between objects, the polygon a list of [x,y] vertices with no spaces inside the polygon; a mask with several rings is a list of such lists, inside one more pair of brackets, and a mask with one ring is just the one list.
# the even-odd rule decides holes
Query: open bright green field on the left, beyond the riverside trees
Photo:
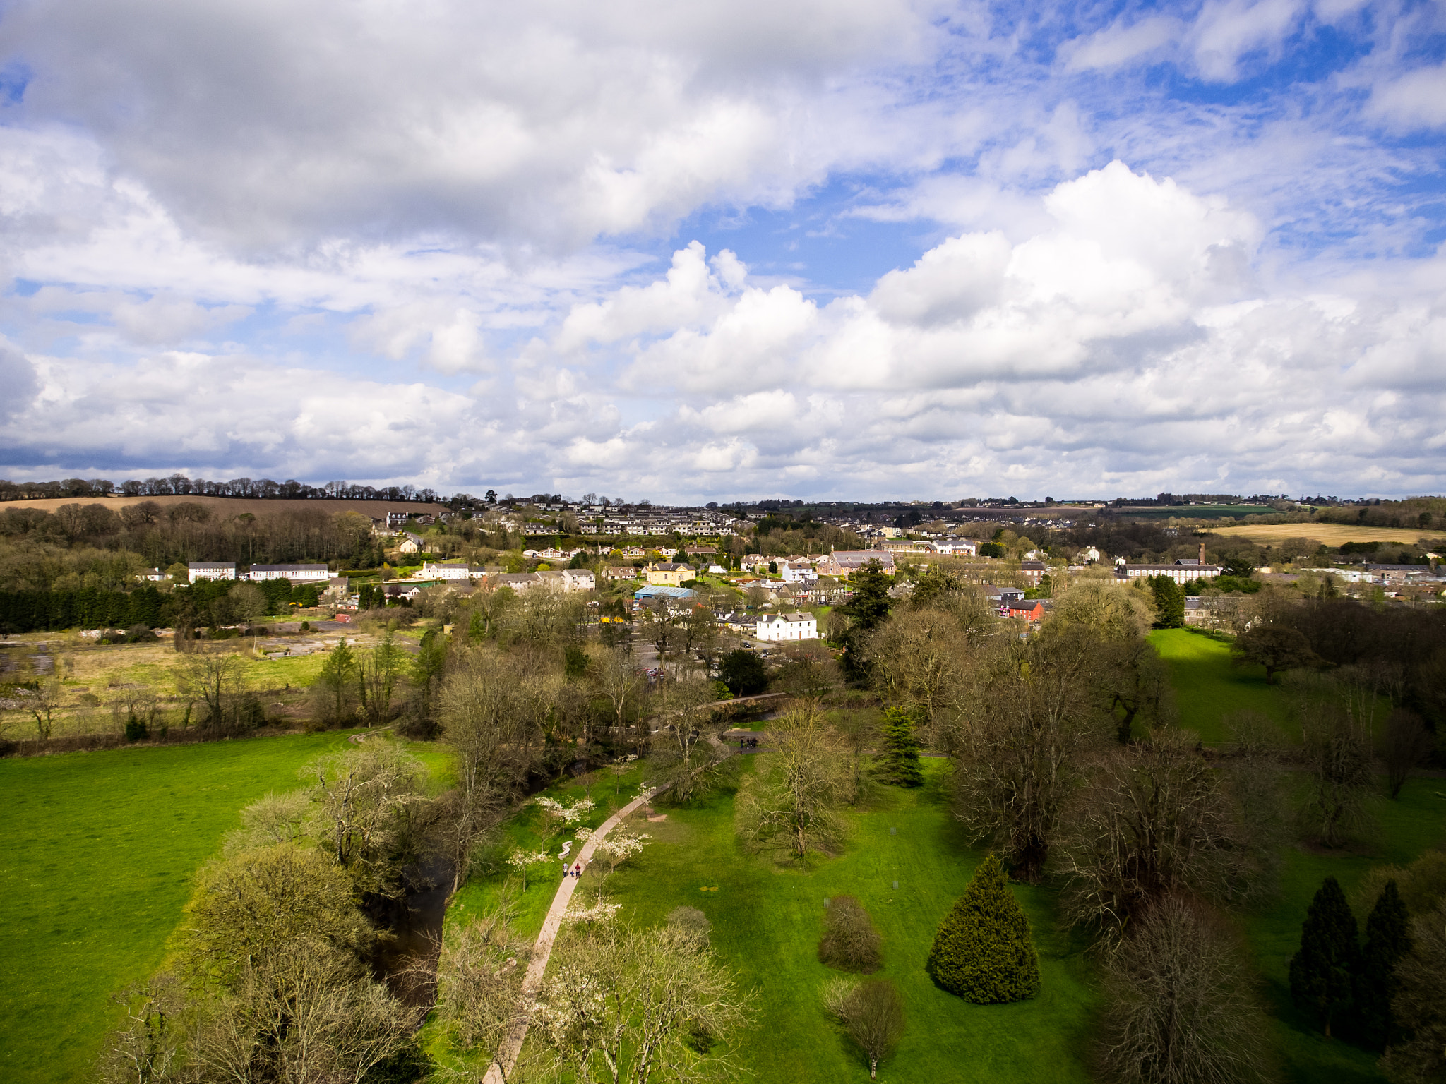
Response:
[{"label": "open bright green field on the left, beyond the riverside trees", "polygon": [[[240,809],[301,785],[346,733],[0,760],[0,1080],[87,1081],[117,1010],[152,974],[195,870]],[[434,775],[445,750],[412,746]]]}]

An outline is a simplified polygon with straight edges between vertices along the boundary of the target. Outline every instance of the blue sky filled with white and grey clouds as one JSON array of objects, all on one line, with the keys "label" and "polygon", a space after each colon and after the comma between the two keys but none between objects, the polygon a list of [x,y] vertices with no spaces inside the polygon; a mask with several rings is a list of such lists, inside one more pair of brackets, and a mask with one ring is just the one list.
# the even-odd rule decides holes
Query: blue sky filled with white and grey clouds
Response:
[{"label": "blue sky filled with white and grey clouds", "polygon": [[0,476],[1446,490],[1446,6],[3,0]]}]

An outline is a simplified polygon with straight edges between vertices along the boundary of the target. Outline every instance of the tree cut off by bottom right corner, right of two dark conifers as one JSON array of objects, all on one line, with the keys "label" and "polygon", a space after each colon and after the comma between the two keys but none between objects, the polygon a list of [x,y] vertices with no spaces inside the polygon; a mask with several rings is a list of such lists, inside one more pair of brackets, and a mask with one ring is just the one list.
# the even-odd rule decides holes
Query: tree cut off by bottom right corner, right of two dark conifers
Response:
[{"label": "tree cut off by bottom right corner, right of two dark conifers", "polygon": [[1395,968],[1391,1012],[1406,1036],[1385,1052],[1385,1071],[1401,1084],[1446,1078],[1446,902],[1411,924],[1411,952]]}]

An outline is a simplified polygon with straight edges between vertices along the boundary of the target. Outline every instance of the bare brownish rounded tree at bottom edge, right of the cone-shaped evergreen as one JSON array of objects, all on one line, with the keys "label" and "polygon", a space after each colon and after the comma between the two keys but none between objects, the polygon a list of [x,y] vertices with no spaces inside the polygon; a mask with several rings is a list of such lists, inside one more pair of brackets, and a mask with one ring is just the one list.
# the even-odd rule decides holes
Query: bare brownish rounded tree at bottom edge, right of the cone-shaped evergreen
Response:
[{"label": "bare brownish rounded tree at bottom edge, right of the cone-shaped evergreen", "polygon": [[1105,963],[1102,1062],[1121,1084],[1264,1081],[1267,1025],[1226,929],[1167,896]]}]

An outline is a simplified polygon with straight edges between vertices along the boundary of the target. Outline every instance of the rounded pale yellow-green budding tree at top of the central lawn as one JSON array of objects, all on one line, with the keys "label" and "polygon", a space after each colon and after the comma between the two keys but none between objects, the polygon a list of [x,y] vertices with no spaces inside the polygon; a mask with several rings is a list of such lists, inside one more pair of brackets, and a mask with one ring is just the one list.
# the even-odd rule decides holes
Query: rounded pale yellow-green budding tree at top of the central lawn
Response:
[{"label": "rounded pale yellow-green budding tree at top of the central lawn", "polygon": [[843,837],[836,804],[847,786],[837,739],[814,701],[792,701],[769,727],[772,752],[743,776],[735,827],[745,846],[804,860]]}]

